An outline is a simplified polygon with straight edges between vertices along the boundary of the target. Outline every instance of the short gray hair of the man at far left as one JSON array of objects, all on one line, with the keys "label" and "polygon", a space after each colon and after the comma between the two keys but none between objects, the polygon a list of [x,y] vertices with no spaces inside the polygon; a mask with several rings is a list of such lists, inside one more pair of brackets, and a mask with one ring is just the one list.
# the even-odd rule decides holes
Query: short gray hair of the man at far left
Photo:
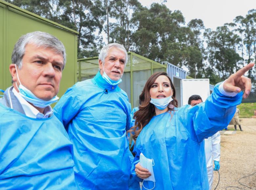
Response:
[{"label": "short gray hair of the man at far left", "polygon": [[21,36],[16,42],[11,54],[11,62],[16,64],[19,68],[22,67],[22,58],[25,54],[25,47],[27,44],[34,44],[37,47],[50,47],[55,50],[56,53],[62,53],[64,68],[66,64],[66,50],[64,45],[55,36],[40,31],[27,33]]}]

